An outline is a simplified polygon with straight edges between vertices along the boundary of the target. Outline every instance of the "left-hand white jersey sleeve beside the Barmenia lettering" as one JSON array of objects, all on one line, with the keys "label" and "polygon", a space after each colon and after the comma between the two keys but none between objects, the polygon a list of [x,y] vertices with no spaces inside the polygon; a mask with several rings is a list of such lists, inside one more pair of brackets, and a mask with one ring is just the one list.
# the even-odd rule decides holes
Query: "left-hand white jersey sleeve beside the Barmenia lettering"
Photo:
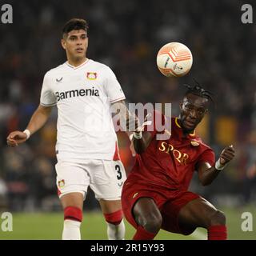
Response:
[{"label": "left-hand white jersey sleeve beside the Barmenia lettering", "polygon": [[40,97],[40,104],[42,106],[54,106],[57,103],[57,98],[52,90],[50,90],[50,77],[49,74],[46,73],[42,82],[42,90]]}]

